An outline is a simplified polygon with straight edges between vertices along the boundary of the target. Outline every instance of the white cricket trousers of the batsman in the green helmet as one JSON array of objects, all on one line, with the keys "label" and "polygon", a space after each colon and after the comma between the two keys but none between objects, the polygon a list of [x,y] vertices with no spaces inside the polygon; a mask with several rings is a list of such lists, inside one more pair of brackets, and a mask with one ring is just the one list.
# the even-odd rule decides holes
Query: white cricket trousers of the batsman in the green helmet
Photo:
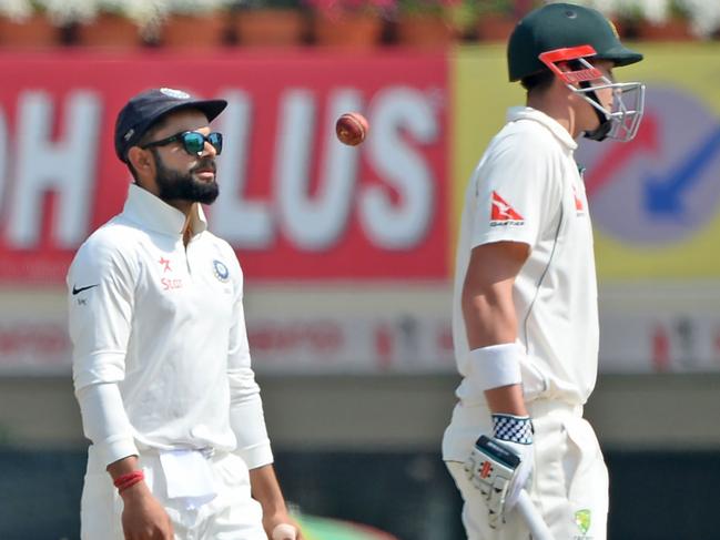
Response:
[{"label": "white cricket trousers of the batsman in the green helmet", "polygon": [[[608,470],[595,431],[581,417],[581,408],[535,401],[528,409],[535,427],[535,469],[527,487],[530,499],[556,540],[606,540]],[[516,510],[507,516],[501,528],[490,529],[487,507],[467,479],[464,463],[446,465],[463,496],[463,524],[468,540],[530,539]]]}]

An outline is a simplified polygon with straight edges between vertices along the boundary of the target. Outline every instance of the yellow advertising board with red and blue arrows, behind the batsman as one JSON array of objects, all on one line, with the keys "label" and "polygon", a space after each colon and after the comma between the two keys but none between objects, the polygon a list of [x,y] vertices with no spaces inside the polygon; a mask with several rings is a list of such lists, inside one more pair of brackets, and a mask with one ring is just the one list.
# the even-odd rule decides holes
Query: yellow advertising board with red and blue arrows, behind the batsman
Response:
[{"label": "yellow advertising board with red and blue arrows, behind the batsman", "polygon": [[[631,143],[581,141],[577,161],[596,231],[601,279],[720,277],[720,44],[636,43],[645,61],[616,70],[647,84]],[[504,47],[464,48],[454,61],[454,226],[464,189],[508,106]]]}]

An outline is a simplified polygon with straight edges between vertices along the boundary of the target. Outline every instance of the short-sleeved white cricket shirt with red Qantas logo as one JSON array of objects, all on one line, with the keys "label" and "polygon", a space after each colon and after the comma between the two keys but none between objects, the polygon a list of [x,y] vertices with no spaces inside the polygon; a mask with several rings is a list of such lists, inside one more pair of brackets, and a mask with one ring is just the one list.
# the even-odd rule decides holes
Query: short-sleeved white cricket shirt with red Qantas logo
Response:
[{"label": "short-sleeved white cricket shirt with red Qantas logo", "polygon": [[[493,139],[470,179],[453,306],[455,357],[464,376],[457,388],[460,409],[485,405],[468,358],[463,283],[471,249],[500,241],[530,246],[514,287],[517,340],[526,354],[521,358],[526,400],[582,405],[592,391],[599,334],[597,283],[585,185],[574,159],[576,147],[567,130],[548,115],[526,106],[513,108],[508,123]],[[453,421],[469,421],[457,417],[458,409]],[[450,425],[446,459],[465,460],[467,441],[453,444],[453,430]]]}]

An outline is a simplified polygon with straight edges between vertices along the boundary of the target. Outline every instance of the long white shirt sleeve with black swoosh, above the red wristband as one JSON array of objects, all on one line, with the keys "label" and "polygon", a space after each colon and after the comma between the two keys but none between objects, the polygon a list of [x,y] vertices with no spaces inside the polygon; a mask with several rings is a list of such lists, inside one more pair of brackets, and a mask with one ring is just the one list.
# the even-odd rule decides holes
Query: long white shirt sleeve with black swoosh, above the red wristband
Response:
[{"label": "long white shirt sleeve with black swoosh, above the red wristband", "polygon": [[84,434],[105,465],[136,455],[118,383],[125,376],[134,281],[104,234],[79,249],[68,273],[72,374]]}]

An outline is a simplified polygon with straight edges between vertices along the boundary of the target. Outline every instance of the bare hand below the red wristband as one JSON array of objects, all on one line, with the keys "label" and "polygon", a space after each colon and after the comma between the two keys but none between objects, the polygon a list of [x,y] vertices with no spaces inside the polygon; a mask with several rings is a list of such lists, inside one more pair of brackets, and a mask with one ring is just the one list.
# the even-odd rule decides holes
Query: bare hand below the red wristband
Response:
[{"label": "bare hand below the red wristband", "polygon": [[173,540],[170,517],[145,482],[125,489],[122,493],[122,530],[125,540]]}]

